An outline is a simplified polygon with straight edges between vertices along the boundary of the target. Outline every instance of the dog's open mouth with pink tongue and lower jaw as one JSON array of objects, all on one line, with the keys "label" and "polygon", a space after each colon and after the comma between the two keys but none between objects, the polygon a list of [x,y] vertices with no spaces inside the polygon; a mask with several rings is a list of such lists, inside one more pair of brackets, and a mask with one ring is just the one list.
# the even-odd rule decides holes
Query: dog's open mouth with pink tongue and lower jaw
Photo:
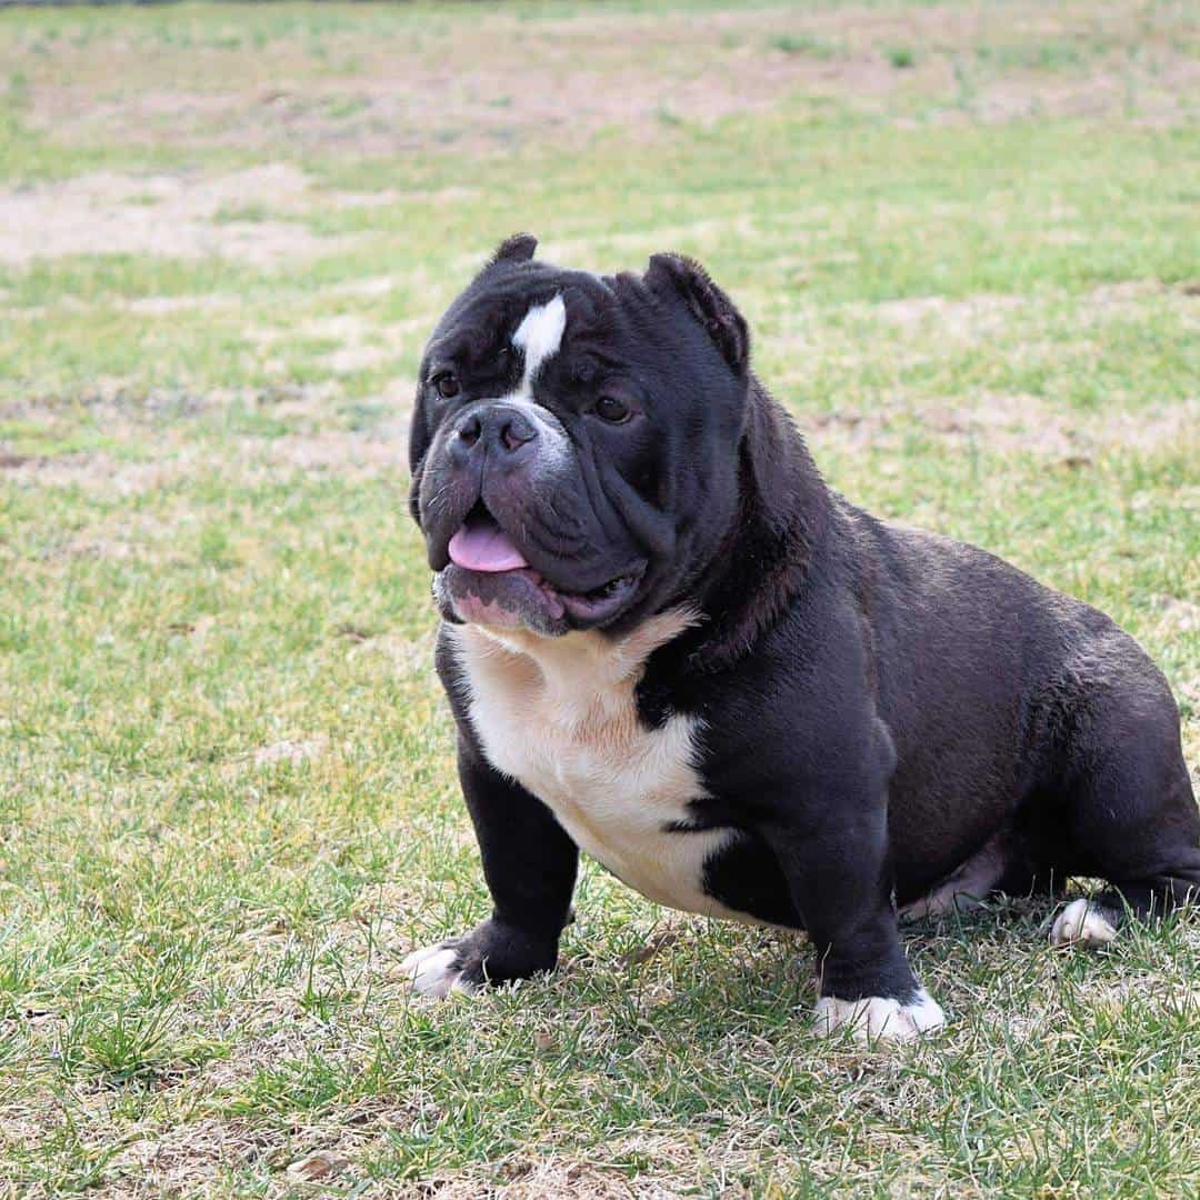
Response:
[{"label": "dog's open mouth with pink tongue and lower jaw", "polygon": [[551,635],[604,624],[624,607],[644,570],[625,571],[589,592],[566,590],[530,566],[482,506],[450,539],[448,552],[450,565],[438,582],[461,619]]}]

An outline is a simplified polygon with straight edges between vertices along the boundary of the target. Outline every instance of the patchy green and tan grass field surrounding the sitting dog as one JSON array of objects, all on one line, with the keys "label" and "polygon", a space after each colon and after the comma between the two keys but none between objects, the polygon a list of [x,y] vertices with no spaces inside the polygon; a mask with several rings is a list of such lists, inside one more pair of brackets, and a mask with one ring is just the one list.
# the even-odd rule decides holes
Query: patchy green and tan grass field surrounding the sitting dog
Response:
[{"label": "patchy green and tan grass field surrounding the sitting dog", "polygon": [[[701,258],[830,482],[1150,649],[1200,764],[1184,2],[0,16],[0,1194],[1200,1195],[1200,923],[913,928],[948,1031],[810,1032],[780,932],[487,899],[406,516],[496,242]],[[1086,881],[1080,881],[1086,888]]]}]

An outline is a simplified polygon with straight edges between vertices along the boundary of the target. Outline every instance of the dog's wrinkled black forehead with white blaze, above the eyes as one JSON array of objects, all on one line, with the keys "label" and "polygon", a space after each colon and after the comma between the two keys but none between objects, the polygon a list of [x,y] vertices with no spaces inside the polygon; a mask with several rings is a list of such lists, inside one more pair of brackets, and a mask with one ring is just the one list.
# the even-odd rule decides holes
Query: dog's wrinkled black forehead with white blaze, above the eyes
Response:
[{"label": "dog's wrinkled black forehead with white blaze, above the eyes", "polygon": [[614,343],[628,322],[629,284],[612,276],[541,268],[476,280],[446,310],[427,358],[458,360],[511,349],[546,359],[571,346]]}]

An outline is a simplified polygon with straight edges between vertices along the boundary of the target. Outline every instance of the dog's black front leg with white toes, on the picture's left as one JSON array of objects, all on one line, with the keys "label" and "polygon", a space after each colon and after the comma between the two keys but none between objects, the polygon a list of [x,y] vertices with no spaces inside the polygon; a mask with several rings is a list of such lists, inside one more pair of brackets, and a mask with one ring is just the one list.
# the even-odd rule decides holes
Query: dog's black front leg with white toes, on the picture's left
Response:
[{"label": "dog's black front leg with white toes, on the picture's left", "polygon": [[578,866],[578,850],[550,809],[494,770],[461,725],[458,779],[494,907],[468,934],[408,955],[403,970],[426,996],[552,970]]}]

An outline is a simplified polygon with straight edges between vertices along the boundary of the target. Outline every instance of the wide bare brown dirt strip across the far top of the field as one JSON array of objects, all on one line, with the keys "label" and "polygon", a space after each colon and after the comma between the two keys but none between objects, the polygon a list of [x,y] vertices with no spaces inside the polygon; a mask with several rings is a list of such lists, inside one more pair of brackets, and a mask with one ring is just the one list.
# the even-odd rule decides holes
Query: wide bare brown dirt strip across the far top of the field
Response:
[{"label": "wide bare brown dirt strip across the far top of the field", "polygon": [[[1121,113],[1172,122],[1187,116],[1187,97],[1200,88],[1200,64],[1177,32],[1135,6],[779,8],[619,20],[522,20],[500,11],[430,25],[419,38],[404,28],[343,30],[323,40],[319,56],[288,43],[203,54],[170,43],[148,53],[118,41],[102,55],[61,47],[36,65],[30,118],[76,144],[122,128],[143,145],[186,139],[370,156],[577,146],[611,126],[642,139],[792,96],[898,120],[919,109],[940,120]],[[1130,42],[1146,53],[1128,55]]]}]

